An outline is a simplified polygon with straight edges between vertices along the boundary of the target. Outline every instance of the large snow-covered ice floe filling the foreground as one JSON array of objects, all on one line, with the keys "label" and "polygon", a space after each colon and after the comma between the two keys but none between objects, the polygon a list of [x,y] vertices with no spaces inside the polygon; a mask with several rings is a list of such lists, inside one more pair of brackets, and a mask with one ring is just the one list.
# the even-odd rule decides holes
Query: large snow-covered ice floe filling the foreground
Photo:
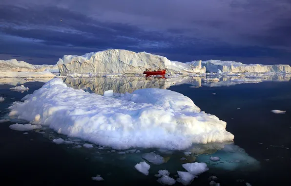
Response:
[{"label": "large snow-covered ice floe filling the foreground", "polygon": [[69,88],[55,78],[9,109],[10,116],[116,149],[182,150],[193,143],[234,138],[226,122],[202,112],[187,96],[163,89],[104,97]]}]

